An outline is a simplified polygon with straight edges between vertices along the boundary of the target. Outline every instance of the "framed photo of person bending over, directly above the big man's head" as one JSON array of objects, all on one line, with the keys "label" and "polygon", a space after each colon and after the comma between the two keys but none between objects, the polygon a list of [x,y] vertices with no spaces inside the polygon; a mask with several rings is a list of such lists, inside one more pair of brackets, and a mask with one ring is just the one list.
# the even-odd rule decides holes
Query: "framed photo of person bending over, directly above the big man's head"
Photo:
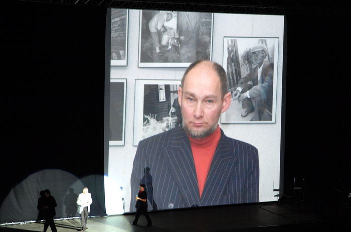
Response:
[{"label": "framed photo of person bending over, directly above the big man's head", "polygon": [[212,59],[213,13],[140,10],[139,67],[188,67]]}]

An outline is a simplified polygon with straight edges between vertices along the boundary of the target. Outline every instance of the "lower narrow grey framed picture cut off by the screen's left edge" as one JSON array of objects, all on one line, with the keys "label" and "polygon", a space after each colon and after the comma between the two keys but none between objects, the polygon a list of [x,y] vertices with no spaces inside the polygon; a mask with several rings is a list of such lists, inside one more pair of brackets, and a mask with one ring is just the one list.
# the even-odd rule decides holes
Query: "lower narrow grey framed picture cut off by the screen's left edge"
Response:
[{"label": "lower narrow grey framed picture cut off by the screen's left edge", "polygon": [[124,145],[127,79],[110,80],[109,145]]}]

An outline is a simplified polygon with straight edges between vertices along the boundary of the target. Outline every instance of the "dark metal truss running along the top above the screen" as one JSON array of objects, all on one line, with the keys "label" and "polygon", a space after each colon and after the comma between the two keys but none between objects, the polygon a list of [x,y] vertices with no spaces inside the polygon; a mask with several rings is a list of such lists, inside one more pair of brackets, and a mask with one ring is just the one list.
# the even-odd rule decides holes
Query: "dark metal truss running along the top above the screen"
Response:
[{"label": "dark metal truss running along the top above the screen", "polygon": [[33,2],[91,5],[129,9],[166,9],[174,11],[202,11],[252,14],[320,14],[337,13],[343,6],[334,1],[314,0],[23,0]]}]

